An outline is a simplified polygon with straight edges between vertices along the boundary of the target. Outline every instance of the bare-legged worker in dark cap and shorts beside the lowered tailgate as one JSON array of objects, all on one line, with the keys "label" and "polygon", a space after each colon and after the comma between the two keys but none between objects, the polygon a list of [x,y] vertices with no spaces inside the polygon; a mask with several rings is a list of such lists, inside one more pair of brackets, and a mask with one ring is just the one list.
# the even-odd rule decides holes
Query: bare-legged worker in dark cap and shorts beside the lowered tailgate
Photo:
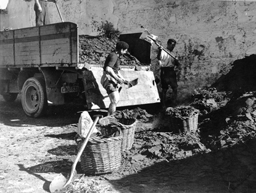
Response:
[{"label": "bare-legged worker in dark cap and shorts beside the lowered tailgate", "polygon": [[117,109],[120,95],[118,89],[120,84],[124,84],[126,79],[120,74],[120,57],[127,52],[129,45],[120,41],[115,45],[115,50],[107,56],[103,67],[101,84],[109,95],[110,104],[107,116],[110,116]]}]

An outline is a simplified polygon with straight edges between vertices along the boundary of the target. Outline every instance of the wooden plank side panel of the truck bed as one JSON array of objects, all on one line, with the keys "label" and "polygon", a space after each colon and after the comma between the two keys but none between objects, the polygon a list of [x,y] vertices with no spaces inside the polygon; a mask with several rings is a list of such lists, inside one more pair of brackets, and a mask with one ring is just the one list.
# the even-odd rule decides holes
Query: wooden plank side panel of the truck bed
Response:
[{"label": "wooden plank side panel of the truck bed", "polygon": [[0,32],[0,67],[75,66],[77,63],[75,23]]}]

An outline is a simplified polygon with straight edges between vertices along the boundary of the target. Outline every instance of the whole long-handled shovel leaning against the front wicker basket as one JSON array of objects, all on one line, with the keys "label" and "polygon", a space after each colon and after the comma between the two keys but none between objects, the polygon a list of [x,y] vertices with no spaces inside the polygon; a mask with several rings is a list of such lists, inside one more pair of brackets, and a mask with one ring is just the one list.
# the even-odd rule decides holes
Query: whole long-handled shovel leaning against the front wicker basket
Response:
[{"label": "whole long-handled shovel leaning against the front wicker basket", "polygon": [[99,120],[100,117],[103,117],[103,116],[102,115],[95,115],[94,117],[96,117],[96,118],[95,118],[95,120],[93,122],[93,125],[91,126],[91,128],[90,128],[90,130],[88,132],[88,135],[85,138],[85,141],[83,141],[83,144],[81,145],[81,148],[79,149],[78,154],[76,156],[76,159],[75,159],[75,161],[74,161],[74,163],[72,165],[72,169],[71,169],[71,172],[70,172],[70,177],[67,180],[62,174],[60,174],[56,178],[54,178],[52,180],[51,184],[50,184],[50,187],[49,187],[51,193],[59,193],[68,184],[70,184],[72,182],[74,173],[76,173],[76,170],[75,170],[76,164],[77,164],[78,160],[80,159],[81,154],[83,153],[86,144],[88,143],[89,137],[93,133],[93,129],[94,129],[95,125],[97,124],[97,121]]}]

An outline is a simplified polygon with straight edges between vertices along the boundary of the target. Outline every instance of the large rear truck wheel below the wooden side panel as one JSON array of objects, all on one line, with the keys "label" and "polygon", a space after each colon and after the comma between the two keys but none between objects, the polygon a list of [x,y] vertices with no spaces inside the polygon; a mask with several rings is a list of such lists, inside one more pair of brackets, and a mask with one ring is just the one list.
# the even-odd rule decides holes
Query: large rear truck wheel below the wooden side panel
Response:
[{"label": "large rear truck wheel below the wooden side panel", "polygon": [[22,106],[28,117],[40,117],[47,108],[44,81],[30,77],[22,87]]}]

